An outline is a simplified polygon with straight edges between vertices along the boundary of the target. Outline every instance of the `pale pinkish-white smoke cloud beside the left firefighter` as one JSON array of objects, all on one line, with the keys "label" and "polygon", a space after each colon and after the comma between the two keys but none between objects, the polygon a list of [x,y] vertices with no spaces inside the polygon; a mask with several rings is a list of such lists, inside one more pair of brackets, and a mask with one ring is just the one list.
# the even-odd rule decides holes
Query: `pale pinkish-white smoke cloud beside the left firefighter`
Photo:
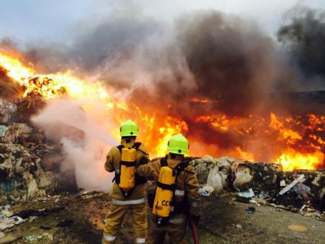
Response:
[{"label": "pale pinkish-white smoke cloud beside the left firefighter", "polygon": [[64,162],[61,170],[74,169],[79,188],[110,191],[113,175],[104,170],[104,162],[109,149],[118,142],[107,132],[109,128],[104,129],[90,117],[89,114],[93,116],[94,111],[99,113],[100,109],[87,113],[81,109],[84,103],[50,100],[32,122],[45,130],[48,139],[62,143]]}]

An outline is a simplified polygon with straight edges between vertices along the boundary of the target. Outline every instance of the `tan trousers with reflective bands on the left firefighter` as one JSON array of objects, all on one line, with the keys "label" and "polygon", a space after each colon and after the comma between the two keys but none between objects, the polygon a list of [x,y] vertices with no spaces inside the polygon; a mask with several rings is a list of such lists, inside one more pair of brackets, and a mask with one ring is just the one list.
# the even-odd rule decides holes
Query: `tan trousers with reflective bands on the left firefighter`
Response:
[{"label": "tan trousers with reflective bands on the left firefighter", "polygon": [[129,209],[131,210],[133,232],[136,235],[135,243],[147,243],[147,203],[145,202],[131,205],[114,205],[112,203],[104,226],[103,244],[115,243],[123,218]]}]

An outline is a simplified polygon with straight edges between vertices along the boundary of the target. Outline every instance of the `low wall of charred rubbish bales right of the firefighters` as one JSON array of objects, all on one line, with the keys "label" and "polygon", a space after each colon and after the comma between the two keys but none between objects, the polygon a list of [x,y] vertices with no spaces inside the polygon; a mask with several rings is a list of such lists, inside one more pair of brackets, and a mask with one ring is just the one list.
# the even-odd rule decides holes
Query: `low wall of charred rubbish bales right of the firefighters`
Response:
[{"label": "low wall of charred rubbish bales right of the firefighters", "polygon": [[282,171],[279,165],[205,156],[191,162],[207,195],[236,191],[236,200],[293,212],[325,209],[325,171]]}]

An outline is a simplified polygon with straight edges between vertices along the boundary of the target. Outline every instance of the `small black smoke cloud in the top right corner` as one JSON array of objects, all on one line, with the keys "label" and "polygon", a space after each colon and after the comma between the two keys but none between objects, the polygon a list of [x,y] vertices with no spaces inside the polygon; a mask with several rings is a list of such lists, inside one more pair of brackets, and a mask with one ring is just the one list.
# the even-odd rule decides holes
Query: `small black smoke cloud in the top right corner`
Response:
[{"label": "small black smoke cloud in the top right corner", "polygon": [[[325,11],[297,6],[288,12],[288,24],[277,38],[305,77],[325,76]],[[325,80],[323,80],[325,86]],[[323,87],[324,87],[323,86]],[[325,87],[324,87],[325,88]]]}]

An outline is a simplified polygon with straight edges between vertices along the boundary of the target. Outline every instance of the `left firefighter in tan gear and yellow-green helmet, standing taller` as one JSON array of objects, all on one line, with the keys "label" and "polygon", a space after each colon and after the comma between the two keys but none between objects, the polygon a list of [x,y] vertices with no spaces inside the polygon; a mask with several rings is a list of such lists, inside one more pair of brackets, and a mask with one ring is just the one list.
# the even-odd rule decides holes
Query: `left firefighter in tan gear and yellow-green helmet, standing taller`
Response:
[{"label": "left firefighter in tan gear and yellow-green helmet, standing taller", "polygon": [[104,227],[102,243],[115,243],[123,218],[131,211],[136,243],[147,243],[146,178],[137,173],[139,165],[149,162],[145,147],[136,142],[138,126],[127,120],[120,127],[121,144],[106,156],[106,171],[115,171],[112,203]]}]

